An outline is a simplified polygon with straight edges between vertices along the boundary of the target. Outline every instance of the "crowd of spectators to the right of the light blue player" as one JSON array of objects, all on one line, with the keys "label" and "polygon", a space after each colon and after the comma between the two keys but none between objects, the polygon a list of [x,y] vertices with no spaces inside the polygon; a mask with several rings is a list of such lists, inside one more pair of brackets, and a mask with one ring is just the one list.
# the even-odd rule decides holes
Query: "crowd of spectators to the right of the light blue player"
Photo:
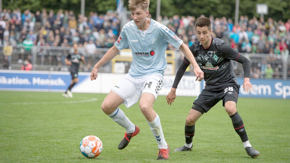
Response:
[{"label": "crowd of spectators to the right of the light blue player", "polygon": [[[287,64],[289,58],[290,19],[287,22],[281,20],[276,22],[272,18],[265,21],[263,18],[258,20],[256,17],[249,18],[243,15],[240,16],[237,23],[226,17],[214,18],[210,15],[209,19],[212,22],[212,37],[228,42],[232,48],[240,53],[263,56],[263,60],[255,60],[252,64],[252,77],[281,78],[282,62]],[[195,17],[174,15],[168,18],[160,16],[157,20],[175,32],[188,46],[197,40]],[[173,49],[171,45],[169,48]],[[237,70],[236,67],[235,70]],[[243,75],[239,73],[241,70],[235,71],[240,77]],[[287,74],[290,76],[290,70]]]}]

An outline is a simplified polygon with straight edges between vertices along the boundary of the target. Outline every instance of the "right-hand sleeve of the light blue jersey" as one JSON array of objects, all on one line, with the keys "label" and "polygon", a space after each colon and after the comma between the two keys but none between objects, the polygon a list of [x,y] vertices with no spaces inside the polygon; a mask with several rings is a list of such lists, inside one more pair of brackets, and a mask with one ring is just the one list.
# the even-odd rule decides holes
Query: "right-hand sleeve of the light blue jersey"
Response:
[{"label": "right-hand sleeve of the light blue jersey", "polygon": [[183,43],[182,39],[179,39],[168,27],[162,25],[159,30],[161,30],[165,42],[170,43],[176,49]]}]

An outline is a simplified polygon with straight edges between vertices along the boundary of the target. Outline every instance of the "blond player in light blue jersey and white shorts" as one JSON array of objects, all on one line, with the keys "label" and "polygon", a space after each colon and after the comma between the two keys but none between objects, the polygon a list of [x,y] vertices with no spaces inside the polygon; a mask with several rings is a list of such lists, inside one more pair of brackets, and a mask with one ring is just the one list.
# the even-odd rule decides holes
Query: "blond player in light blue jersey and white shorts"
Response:
[{"label": "blond player in light blue jersey and white shorts", "polygon": [[91,80],[98,77],[101,66],[112,60],[120,50],[130,47],[133,56],[130,70],[112,87],[101,108],[117,124],[126,129],[125,136],[118,146],[119,149],[124,149],[140,129],[125,116],[119,105],[124,103],[129,108],[140,99],[140,110],[147,119],[158,144],[157,159],[167,160],[170,149],[163,136],[160,118],[153,110],[153,103],[163,86],[163,75],[167,66],[165,50],[168,44],[179,48],[192,63],[196,80],[201,81],[204,74],[189,48],[174,32],[159,22],[147,18],[149,3],[149,0],[129,0],[128,6],[133,20],[124,25],[115,45],[96,63],[91,73]]}]

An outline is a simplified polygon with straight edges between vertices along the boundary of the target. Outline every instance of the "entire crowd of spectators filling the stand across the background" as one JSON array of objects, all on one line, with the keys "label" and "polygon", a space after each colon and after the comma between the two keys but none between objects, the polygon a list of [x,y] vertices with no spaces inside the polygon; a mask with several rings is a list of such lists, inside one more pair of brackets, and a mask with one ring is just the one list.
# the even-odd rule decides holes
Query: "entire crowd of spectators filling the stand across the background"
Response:
[{"label": "entire crowd of spectators filling the stand across the background", "polygon": [[[235,24],[226,17],[214,18],[210,15],[209,18],[212,22],[212,36],[225,40],[241,53],[265,54],[268,57],[266,64],[268,60],[289,56],[290,19],[287,22],[277,22],[271,18],[265,21],[263,18],[240,16],[239,22]],[[160,16],[157,21],[175,32],[188,46],[197,40],[194,26],[196,17]],[[20,9],[3,9],[0,13],[0,45],[25,45],[27,48],[33,45],[71,47],[73,43],[78,43],[79,47],[86,49],[87,54],[94,55],[97,48],[112,47],[121,28],[118,15],[113,11],[106,14],[90,12],[87,17],[83,17],[62,9],[57,12],[42,9],[35,13],[29,9],[23,13]],[[168,50],[175,49],[169,45]],[[9,48],[6,48],[6,54],[10,54]],[[6,64],[11,64],[11,56],[6,55],[4,59],[9,60]],[[265,61],[261,61],[256,68],[262,75],[268,67],[261,66],[263,62]],[[277,67],[270,66],[274,69]]]}]

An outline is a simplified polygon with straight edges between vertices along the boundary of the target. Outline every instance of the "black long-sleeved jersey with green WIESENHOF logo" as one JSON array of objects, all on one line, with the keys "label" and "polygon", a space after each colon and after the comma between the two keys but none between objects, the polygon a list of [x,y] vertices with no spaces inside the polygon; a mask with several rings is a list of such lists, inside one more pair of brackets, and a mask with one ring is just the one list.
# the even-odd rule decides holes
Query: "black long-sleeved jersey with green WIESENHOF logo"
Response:
[{"label": "black long-sleeved jersey with green WIESENHOF logo", "polygon": [[[236,85],[239,87],[230,60],[236,60],[237,62],[242,63],[245,77],[249,78],[250,76],[250,61],[245,57],[240,56],[239,52],[234,50],[221,39],[212,37],[211,45],[207,49],[204,49],[199,41],[196,41],[189,47],[189,49],[194,55],[197,64],[204,72],[206,87],[220,88],[225,85]],[[176,74],[173,88],[177,88],[184,73],[184,67],[187,67],[189,64],[189,60],[184,57],[183,63],[178,69],[181,75],[178,73]]]}]

